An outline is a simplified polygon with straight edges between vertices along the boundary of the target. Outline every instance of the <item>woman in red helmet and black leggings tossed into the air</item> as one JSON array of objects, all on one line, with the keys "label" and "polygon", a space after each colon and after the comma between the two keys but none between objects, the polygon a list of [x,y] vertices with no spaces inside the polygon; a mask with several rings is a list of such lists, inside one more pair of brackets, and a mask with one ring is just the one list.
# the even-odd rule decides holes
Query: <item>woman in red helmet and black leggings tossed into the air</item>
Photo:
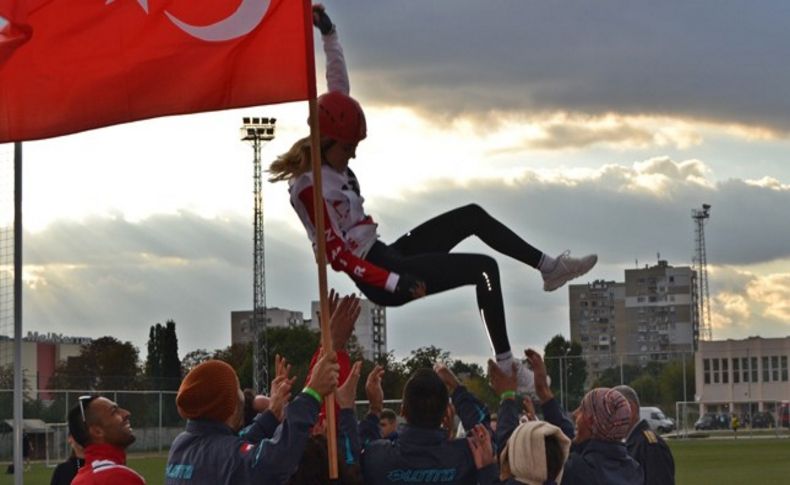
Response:
[{"label": "woman in red helmet and black leggings tossed into the air", "polygon": [[[551,257],[536,249],[476,204],[423,222],[392,244],[382,242],[377,224],[365,212],[359,182],[349,168],[359,142],[367,136],[365,114],[349,96],[350,86],[337,31],[323,7],[313,8],[326,54],[329,91],[318,98],[322,189],[327,260],[347,273],[362,293],[383,306],[399,306],[459,286],[474,286],[480,316],[499,365],[512,371],[513,355],[505,325],[499,268],[487,255],[454,253],[464,239],[477,236],[493,250],[540,271],[543,289],[554,291],[595,266],[594,254],[582,258],[568,251]],[[313,174],[310,138],[294,143],[269,167],[270,181],[288,181],[291,205],[315,248]],[[519,391],[534,390],[532,373],[519,365]]]}]

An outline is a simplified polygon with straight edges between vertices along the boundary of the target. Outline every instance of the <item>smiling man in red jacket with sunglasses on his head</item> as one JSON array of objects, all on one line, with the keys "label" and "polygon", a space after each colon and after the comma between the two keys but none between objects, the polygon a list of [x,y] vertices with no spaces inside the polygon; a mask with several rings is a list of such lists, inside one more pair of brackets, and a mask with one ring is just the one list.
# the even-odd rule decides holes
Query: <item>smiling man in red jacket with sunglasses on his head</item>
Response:
[{"label": "smiling man in red jacket with sunglasses on his head", "polygon": [[126,466],[135,437],[131,413],[101,396],[81,396],[69,411],[69,432],[85,448],[85,465],[72,485],[140,485],[145,479]]}]

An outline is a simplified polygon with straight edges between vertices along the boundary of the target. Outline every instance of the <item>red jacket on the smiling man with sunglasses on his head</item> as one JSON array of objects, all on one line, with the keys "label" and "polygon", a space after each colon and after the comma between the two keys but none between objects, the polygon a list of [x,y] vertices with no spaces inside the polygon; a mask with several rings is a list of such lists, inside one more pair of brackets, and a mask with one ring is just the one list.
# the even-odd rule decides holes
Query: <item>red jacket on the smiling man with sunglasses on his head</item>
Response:
[{"label": "red jacket on the smiling man with sunglasses on his head", "polygon": [[126,466],[126,451],[101,444],[85,448],[85,465],[72,485],[145,485],[145,479]]}]

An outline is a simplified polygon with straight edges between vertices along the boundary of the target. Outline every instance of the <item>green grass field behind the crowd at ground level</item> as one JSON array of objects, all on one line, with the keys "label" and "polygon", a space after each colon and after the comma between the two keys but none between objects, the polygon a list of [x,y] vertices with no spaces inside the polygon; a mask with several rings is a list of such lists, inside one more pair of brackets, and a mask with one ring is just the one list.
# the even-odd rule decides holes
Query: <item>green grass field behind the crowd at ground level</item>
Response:
[{"label": "green grass field behind the crowd at ground level", "polygon": [[[675,457],[678,485],[790,483],[790,439],[698,439],[669,443]],[[132,456],[129,466],[142,474],[149,485],[161,485],[165,461],[164,456]],[[51,468],[35,464],[25,473],[25,484],[49,485],[51,475]],[[0,475],[0,485],[13,483],[11,475]]]}]

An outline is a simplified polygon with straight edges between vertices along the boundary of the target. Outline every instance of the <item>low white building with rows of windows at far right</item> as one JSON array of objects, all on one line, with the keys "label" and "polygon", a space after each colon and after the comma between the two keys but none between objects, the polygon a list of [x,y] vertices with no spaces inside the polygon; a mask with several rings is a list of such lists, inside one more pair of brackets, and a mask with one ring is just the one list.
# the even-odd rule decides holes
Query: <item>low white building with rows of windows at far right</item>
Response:
[{"label": "low white building with rows of windows at far right", "polygon": [[774,412],[790,400],[790,337],[699,341],[695,378],[700,412]]}]

